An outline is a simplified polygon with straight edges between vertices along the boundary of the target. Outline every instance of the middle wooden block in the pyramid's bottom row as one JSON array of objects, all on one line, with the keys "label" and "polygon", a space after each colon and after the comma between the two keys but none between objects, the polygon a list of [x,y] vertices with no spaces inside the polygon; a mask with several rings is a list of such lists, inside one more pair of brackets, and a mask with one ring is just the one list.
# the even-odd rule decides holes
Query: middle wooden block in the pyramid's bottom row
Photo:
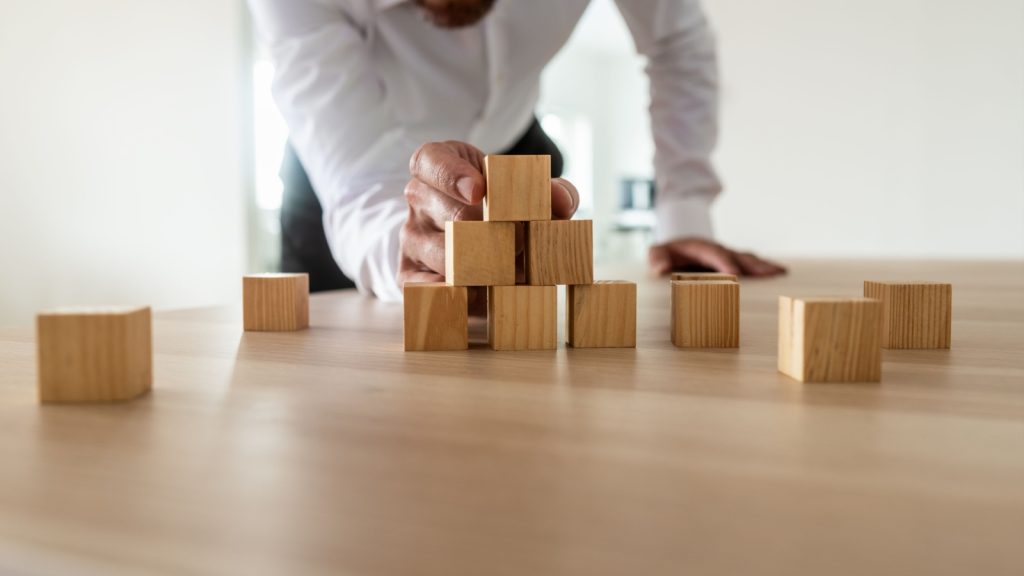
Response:
[{"label": "middle wooden block in the pyramid's bottom row", "polygon": [[487,288],[487,342],[494,349],[553,349],[558,305],[554,286]]}]

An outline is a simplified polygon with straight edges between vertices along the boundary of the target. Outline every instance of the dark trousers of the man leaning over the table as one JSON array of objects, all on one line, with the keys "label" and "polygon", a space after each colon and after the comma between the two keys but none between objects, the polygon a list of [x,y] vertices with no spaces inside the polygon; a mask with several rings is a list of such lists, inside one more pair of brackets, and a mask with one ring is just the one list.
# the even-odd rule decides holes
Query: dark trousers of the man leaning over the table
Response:
[{"label": "dark trousers of the man leaning over the table", "polygon": [[[535,118],[526,132],[502,154],[551,156],[551,177],[562,174],[562,154]],[[309,275],[309,291],[353,288],[331,255],[324,233],[324,210],[295,150],[289,143],[281,166],[285,194],[281,206],[281,272]]]}]

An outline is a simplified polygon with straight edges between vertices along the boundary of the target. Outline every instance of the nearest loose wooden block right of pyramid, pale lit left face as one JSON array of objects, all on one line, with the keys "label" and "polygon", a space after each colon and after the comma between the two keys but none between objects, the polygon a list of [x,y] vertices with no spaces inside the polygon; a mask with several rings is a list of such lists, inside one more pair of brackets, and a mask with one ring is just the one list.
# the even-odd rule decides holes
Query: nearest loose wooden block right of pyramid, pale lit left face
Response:
[{"label": "nearest loose wooden block right of pyramid, pale lit left face", "polygon": [[778,370],[801,382],[882,379],[882,302],[778,299]]}]

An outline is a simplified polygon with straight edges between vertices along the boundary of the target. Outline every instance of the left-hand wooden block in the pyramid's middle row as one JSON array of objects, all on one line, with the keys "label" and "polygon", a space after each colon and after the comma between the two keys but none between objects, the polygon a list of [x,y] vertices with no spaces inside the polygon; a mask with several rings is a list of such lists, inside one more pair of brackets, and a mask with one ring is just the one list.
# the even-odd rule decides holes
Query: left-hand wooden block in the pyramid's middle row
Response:
[{"label": "left-hand wooden block in the pyramid's middle row", "polygon": [[515,284],[515,222],[444,222],[444,281],[452,286]]}]

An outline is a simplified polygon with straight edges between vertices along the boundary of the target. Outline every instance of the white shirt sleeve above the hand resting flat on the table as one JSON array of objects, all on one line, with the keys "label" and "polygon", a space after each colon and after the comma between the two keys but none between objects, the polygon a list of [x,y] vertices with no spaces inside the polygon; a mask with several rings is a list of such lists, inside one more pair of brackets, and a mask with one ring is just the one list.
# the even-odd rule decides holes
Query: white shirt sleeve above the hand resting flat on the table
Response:
[{"label": "white shirt sleeve above the hand resting flat on the table", "polygon": [[721,192],[711,154],[718,139],[718,60],[699,0],[616,0],[637,51],[647,56],[654,135],[656,242],[711,238]]}]

